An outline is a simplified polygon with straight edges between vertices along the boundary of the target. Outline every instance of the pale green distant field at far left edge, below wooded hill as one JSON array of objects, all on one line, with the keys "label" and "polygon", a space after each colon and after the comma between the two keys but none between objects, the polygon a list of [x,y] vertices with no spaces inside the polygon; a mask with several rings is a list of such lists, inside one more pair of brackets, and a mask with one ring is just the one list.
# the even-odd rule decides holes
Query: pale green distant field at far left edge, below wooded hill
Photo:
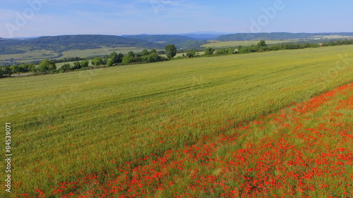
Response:
[{"label": "pale green distant field at far left edge, below wooded hill", "polygon": [[54,51],[47,51],[47,50],[39,50],[39,51],[28,51],[24,54],[4,54],[0,55],[0,63],[1,62],[9,62],[11,58],[15,59],[14,61],[20,63],[26,63],[30,61],[37,61],[43,59],[50,59],[59,56]]}]

